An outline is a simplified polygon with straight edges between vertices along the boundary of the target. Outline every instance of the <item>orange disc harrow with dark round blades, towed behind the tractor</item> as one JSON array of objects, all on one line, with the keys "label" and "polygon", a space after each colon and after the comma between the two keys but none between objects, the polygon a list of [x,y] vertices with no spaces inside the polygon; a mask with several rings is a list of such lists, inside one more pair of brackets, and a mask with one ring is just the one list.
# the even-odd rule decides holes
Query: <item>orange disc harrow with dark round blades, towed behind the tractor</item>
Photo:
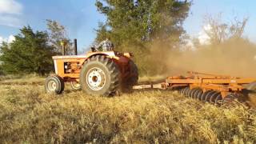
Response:
[{"label": "orange disc harrow with dark round blades, towed behind the tractor", "polygon": [[[220,105],[223,102],[241,100],[248,91],[256,90],[256,78],[238,78],[217,74],[188,72],[189,76],[168,77],[163,89],[178,90],[180,94]],[[249,87],[249,88],[247,88]]]}]

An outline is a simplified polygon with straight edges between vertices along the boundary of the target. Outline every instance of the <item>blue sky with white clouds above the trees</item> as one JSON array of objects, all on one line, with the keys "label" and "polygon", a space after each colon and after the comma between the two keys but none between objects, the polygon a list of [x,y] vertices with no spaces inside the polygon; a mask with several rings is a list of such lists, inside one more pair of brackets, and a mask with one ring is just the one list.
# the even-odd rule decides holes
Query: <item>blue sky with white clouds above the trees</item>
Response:
[{"label": "blue sky with white clouds above the trees", "polygon": [[[46,19],[52,19],[66,26],[70,38],[78,38],[78,49],[82,50],[94,41],[98,22],[106,21],[94,3],[95,0],[0,0],[0,42],[11,42],[22,26],[46,30]],[[190,36],[200,37],[207,14],[222,13],[224,22],[248,17],[244,37],[256,42],[255,7],[255,0],[194,0],[184,29]]]}]

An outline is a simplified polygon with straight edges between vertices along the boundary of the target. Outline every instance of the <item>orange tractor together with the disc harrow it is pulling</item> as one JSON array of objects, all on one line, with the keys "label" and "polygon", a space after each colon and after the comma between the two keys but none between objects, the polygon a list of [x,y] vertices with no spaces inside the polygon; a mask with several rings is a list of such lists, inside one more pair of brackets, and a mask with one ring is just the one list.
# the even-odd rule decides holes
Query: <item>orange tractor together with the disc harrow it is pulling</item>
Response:
[{"label": "orange tractor together with the disc harrow it is pulling", "polygon": [[[75,54],[76,54],[76,41]],[[65,54],[65,47],[62,49]],[[64,83],[74,90],[92,95],[113,95],[119,90],[131,90],[138,82],[138,69],[130,59],[132,54],[115,51],[91,52],[80,56],[54,56],[55,74],[46,78],[46,91],[61,94]],[[145,87],[146,88],[146,87]],[[154,88],[151,84],[148,88]],[[221,103],[242,100],[256,90],[256,78],[238,78],[225,75],[189,72],[188,76],[168,77],[162,89],[179,90],[202,102]]]}]

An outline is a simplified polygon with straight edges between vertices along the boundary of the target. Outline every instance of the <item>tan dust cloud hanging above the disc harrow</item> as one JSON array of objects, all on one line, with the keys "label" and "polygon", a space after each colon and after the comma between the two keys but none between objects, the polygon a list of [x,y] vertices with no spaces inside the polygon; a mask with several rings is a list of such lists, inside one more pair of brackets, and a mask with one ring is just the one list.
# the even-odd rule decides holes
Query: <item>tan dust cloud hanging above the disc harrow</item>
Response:
[{"label": "tan dust cloud hanging above the disc harrow", "polygon": [[235,77],[256,78],[256,46],[245,40],[230,40],[218,45],[198,46],[196,50],[168,50],[153,44],[154,65],[162,65],[162,73],[185,75],[187,71]]}]

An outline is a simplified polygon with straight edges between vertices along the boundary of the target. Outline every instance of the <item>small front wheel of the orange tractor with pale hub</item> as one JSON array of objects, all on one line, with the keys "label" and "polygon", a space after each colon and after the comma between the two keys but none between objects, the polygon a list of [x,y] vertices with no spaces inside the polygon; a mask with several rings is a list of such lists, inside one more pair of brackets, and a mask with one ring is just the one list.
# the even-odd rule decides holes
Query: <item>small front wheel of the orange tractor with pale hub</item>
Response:
[{"label": "small front wheel of the orange tractor with pale hub", "polygon": [[64,80],[60,78],[58,75],[51,75],[48,78],[46,78],[46,82],[45,82],[46,93],[62,94],[64,87],[65,87]]}]

